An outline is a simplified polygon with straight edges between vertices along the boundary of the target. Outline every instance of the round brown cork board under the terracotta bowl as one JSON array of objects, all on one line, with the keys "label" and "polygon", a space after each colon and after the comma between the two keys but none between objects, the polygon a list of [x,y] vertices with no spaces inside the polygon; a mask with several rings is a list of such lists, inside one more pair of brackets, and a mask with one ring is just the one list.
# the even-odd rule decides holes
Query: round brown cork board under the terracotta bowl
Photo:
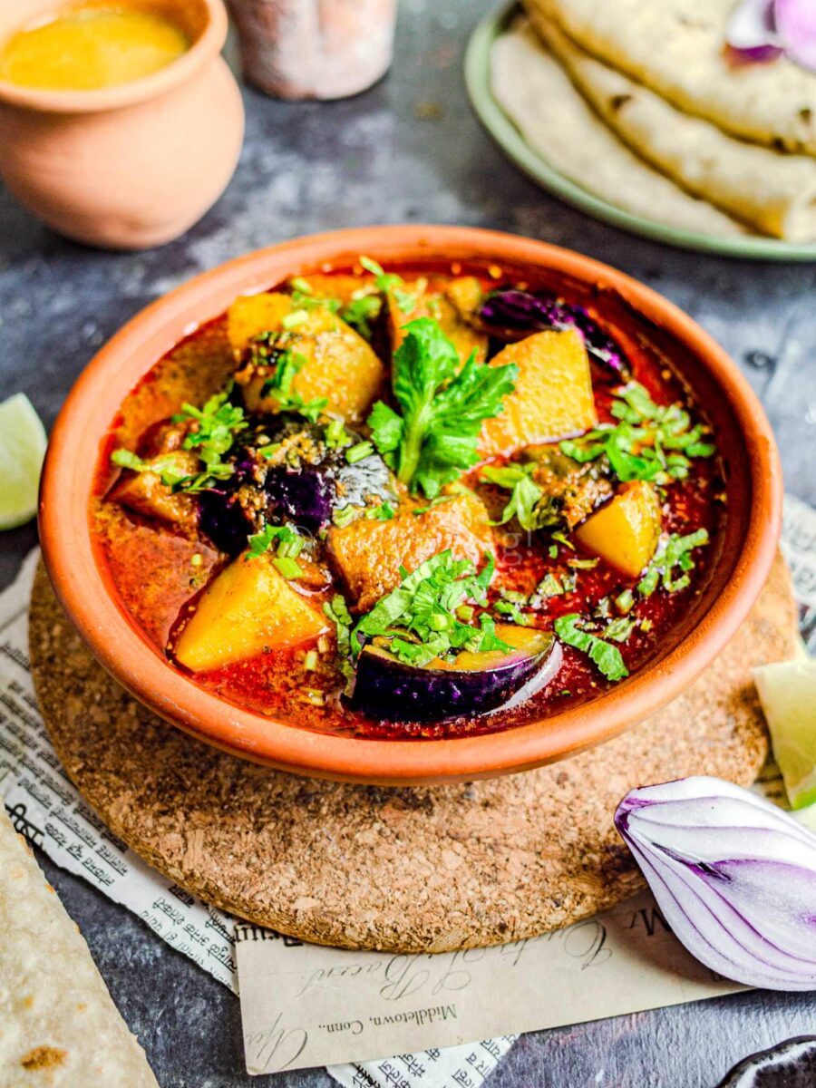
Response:
[{"label": "round brown cork board under the terracotta bowl", "polygon": [[642,880],[613,827],[634,786],[747,784],[767,754],[751,668],[795,652],[779,559],[731,644],[669,707],[564,763],[436,788],[296,778],[224,755],[131,697],[85,648],[40,568],[37,693],[67,774],[176,883],[252,922],[345,948],[438,952],[565,926]]}]

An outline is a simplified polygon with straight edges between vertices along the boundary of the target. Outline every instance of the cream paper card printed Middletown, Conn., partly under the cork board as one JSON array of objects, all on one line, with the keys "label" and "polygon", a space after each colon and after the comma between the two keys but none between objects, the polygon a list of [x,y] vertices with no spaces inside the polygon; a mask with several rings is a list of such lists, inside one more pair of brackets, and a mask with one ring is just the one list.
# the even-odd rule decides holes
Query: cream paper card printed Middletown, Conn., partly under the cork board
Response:
[{"label": "cream paper card printed Middletown, Conn., partly under the cork board", "polygon": [[743,989],[697,963],[646,892],[566,929],[495,948],[435,955],[293,949],[276,934],[237,924],[236,952],[250,1074],[561,1027]]}]

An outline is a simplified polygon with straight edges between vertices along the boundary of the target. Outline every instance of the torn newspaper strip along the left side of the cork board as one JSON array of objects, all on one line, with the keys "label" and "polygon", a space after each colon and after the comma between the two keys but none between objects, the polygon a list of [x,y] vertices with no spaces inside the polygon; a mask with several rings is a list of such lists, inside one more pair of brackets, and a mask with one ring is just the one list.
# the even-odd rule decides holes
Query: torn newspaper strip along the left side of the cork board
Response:
[{"label": "torn newspaper strip along the left side of the cork board", "polygon": [[233,920],[151,869],[79,796],[49,740],[28,666],[28,598],[38,553],[0,594],[0,798],[51,861],[133,911],[168,944],[237,991]]}]

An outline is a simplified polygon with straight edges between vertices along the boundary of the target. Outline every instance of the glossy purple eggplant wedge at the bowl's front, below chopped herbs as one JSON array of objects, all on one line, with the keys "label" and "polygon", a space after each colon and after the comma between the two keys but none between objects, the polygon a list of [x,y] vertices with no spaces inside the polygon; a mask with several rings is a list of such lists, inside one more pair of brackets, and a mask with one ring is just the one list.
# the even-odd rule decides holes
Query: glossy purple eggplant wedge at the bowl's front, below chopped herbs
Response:
[{"label": "glossy purple eggplant wedge at the bowl's front, below chopped herbs", "polygon": [[382,646],[363,646],[353,709],[381,721],[442,721],[495,710],[515,695],[539,691],[558,671],[561,648],[549,631],[496,625],[510,653],[462,651],[453,663],[405,665]]}]

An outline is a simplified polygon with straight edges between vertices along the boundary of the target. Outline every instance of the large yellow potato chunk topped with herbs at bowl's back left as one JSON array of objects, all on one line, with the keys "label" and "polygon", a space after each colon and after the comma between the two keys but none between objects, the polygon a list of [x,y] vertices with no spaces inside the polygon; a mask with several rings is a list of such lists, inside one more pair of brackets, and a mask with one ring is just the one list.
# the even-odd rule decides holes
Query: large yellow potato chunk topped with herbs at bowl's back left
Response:
[{"label": "large yellow potato chunk topped with herbs at bowl's back left", "polygon": [[[368,412],[385,381],[385,367],[350,325],[323,306],[304,310],[302,320],[290,330],[284,324],[296,308],[288,295],[248,295],[237,298],[227,310],[227,332],[236,360],[240,360],[251,339],[260,333],[288,332],[285,343],[306,362],[295,375],[292,392],[304,400],[325,397],[326,410],[351,422]],[[262,395],[263,385],[274,368],[257,371],[246,368],[236,381],[244,386],[244,399],[250,411],[274,411],[274,398]]]}]

